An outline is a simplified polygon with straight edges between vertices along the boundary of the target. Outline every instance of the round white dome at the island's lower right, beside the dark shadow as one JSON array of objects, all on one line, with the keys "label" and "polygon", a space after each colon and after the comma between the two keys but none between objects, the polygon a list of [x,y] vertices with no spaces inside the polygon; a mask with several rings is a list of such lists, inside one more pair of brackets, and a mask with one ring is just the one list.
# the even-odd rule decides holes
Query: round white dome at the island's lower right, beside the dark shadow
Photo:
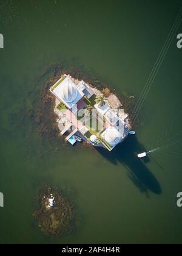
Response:
[{"label": "round white dome at the island's lower right, beside the dark shadow", "polygon": [[121,133],[118,132],[118,130],[116,130],[115,127],[108,128],[106,130],[104,138],[107,141],[107,143],[110,144],[110,146],[116,146],[116,144],[120,143],[120,141],[122,140]]}]

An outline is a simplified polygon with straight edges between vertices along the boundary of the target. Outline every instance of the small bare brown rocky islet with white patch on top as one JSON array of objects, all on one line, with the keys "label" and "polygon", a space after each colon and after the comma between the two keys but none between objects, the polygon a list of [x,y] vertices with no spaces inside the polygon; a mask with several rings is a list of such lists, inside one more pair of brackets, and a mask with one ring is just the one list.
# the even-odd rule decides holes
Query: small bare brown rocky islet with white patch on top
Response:
[{"label": "small bare brown rocky islet with white patch on top", "polygon": [[38,193],[36,212],[33,214],[45,235],[62,236],[75,229],[72,203],[55,187],[45,185]]}]

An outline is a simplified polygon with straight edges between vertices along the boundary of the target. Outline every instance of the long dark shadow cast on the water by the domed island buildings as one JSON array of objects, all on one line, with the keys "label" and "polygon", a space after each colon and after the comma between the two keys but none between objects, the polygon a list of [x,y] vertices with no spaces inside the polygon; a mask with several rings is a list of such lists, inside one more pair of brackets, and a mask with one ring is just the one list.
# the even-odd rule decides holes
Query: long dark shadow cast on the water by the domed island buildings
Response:
[{"label": "long dark shadow cast on the water by the domed island buildings", "polygon": [[146,157],[143,161],[137,157],[137,154],[146,152],[146,149],[138,142],[135,136],[129,135],[112,152],[108,152],[103,148],[98,148],[97,150],[113,165],[118,165],[118,163],[124,165],[128,171],[129,179],[146,196],[149,196],[149,191],[158,195],[162,193],[160,183],[158,183],[158,180],[145,165],[145,163],[150,161],[150,158]]}]

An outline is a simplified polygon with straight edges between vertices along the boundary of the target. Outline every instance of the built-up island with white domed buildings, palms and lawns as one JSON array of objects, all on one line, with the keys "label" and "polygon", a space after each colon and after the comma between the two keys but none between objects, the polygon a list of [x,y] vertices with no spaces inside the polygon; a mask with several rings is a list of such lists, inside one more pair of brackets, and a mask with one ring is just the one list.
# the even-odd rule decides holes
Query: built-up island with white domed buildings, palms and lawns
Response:
[{"label": "built-up island with white domed buildings, palms and lawns", "polygon": [[59,134],[66,135],[70,144],[83,140],[112,151],[129,134],[129,115],[107,88],[100,91],[84,80],[64,74],[50,91],[55,96]]}]

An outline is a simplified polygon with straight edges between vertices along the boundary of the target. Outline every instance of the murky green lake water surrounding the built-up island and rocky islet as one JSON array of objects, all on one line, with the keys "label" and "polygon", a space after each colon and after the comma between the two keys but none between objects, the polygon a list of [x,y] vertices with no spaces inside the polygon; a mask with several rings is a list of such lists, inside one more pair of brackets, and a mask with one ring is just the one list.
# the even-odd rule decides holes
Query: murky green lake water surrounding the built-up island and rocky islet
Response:
[{"label": "murky green lake water surrounding the built-up island and rocky islet", "polygon": [[[177,0],[0,0],[0,243],[181,243],[182,24],[144,101],[136,138],[116,151],[65,143],[52,151],[21,118],[36,104],[42,71],[55,63],[83,65],[117,94],[139,98],[180,8]],[[146,163],[136,158],[167,140]],[[80,223],[72,235],[47,237],[36,227],[33,201],[43,181],[74,202]]]}]

